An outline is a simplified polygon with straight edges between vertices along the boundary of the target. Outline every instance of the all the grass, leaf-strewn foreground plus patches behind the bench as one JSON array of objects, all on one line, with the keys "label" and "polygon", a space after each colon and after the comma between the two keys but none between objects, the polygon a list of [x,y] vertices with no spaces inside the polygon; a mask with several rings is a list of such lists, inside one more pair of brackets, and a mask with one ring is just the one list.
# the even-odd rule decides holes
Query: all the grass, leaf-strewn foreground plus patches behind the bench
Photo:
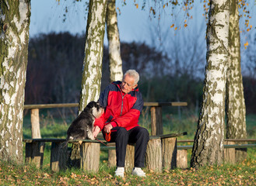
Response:
[{"label": "all the grass, leaf-strewn foreground plus patches behind the bench", "polygon": [[[140,125],[149,127],[149,116],[143,115]],[[198,118],[184,113],[178,115],[163,114],[164,133],[188,132],[188,136],[178,139],[193,139]],[[47,122],[48,121],[48,122]],[[72,121],[72,118],[68,120]],[[26,122],[26,123],[25,123]],[[53,120],[44,116],[41,127],[43,138],[65,138],[68,126],[62,119]],[[69,123],[67,122],[67,123]],[[247,137],[256,137],[256,115],[247,116]],[[24,119],[23,136],[30,138],[30,119]],[[192,144],[192,143],[191,143]],[[190,144],[190,145],[191,145]],[[107,151],[100,153],[100,170],[97,174],[80,169],[68,169],[54,173],[50,170],[50,149],[48,143],[44,150],[44,166],[42,170],[28,165],[17,165],[0,160],[0,185],[255,185],[256,184],[256,149],[247,150],[247,159],[240,164],[222,164],[205,166],[198,170],[193,168],[164,170],[162,173],[146,171],[146,178],[134,177],[126,171],[124,178],[113,177],[114,167],[107,167]],[[24,153],[25,156],[25,153]],[[188,150],[190,160],[191,150]],[[188,162],[189,164],[189,162]]]}]

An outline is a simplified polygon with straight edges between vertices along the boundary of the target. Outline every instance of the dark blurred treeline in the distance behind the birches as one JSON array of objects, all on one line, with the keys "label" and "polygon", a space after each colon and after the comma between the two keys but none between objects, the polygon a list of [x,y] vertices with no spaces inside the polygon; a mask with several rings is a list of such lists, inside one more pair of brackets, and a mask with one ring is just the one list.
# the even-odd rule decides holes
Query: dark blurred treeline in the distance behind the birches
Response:
[{"label": "dark blurred treeline in the distance behind the birches", "polygon": [[[85,35],[41,34],[30,38],[25,104],[79,102]],[[188,102],[201,105],[203,80],[188,74],[178,64],[145,43],[121,43],[123,71],[134,68],[141,79],[139,89],[145,102]],[[109,83],[108,49],[103,52],[101,89]],[[173,70],[175,69],[175,71]],[[247,112],[256,113],[256,80],[244,77]]]}]

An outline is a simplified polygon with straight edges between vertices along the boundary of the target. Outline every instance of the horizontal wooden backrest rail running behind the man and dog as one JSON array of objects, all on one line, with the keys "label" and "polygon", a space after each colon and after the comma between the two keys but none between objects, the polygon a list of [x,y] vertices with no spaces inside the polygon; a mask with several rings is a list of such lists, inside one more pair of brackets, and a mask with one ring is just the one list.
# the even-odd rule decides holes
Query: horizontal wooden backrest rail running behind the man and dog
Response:
[{"label": "horizontal wooden backrest rail running behind the man and dog", "polygon": [[[78,107],[79,103],[32,104],[24,105],[24,109],[32,108],[65,108]],[[144,106],[188,106],[187,102],[144,102]]]}]

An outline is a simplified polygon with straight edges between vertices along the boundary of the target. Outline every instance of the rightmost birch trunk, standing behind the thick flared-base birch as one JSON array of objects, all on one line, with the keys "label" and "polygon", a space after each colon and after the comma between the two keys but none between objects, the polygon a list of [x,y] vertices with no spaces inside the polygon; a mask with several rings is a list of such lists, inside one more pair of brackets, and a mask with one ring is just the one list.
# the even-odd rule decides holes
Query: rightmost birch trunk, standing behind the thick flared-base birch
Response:
[{"label": "rightmost birch trunk, standing behind the thick flared-base birch", "polygon": [[[239,11],[236,0],[230,0],[229,66],[226,80],[226,138],[246,138],[244,86],[240,66]],[[242,144],[242,143],[240,143]],[[244,160],[246,149],[236,150],[237,162]]]}]

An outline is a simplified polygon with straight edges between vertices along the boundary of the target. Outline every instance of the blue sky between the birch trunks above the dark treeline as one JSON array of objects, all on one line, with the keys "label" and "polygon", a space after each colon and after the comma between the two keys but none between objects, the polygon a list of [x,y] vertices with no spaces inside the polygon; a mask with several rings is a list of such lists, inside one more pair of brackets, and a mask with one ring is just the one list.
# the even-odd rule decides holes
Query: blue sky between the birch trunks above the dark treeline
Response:
[{"label": "blue sky between the birch trunks above the dark treeline", "polygon": [[[72,34],[86,33],[86,17],[87,12],[86,0],[82,2],[73,2],[73,0],[31,0],[31,17],[30,17],[30,37],[37,36],[40,33],[60,33],[69,32]],[[206,56],[206,41],[205,30],[206,20],[203,16],[203,4],[201,0],[196,0],[193,9],[187,14],[180,9],[170,9],[170,6],[165,9],[160,5],[160,19],[158,19],[158,12],[156,18],[153,14],[149,14],[150,6],[146,1],[146,8],[142,10],[142,4],[136,7],[136,2],[143,1],[125,1],[127,4],[123,5],[123,0],[118,1],[116,7],[120,9],[121,14],[117,13],[117,24],[120,33],[121,42],[141,42],[147,43],[158,50],[166,51],[174,56],[174,50],[189,50],[190,45],[198,42],[201,53]],[[244,55],[244,43],[247,43],[248,37],[254,36],[256,28],[256,2],[249,0],[251,13],[250,24],[252,29],[250,32],[241,34],[241,58]],[[154,5],[153,5],[154,6]],[[68,12],[65,13],[65,7],[68,7]],[[157,5],[156,5],[157,7]],[[168,9],[169,8],[169,9]],[[156,8],[156,11],[158,9]],[[65,14],[65,15],[64,15]],[[173,15],[171,15],[173,14]],[[63,21],[65,19],[65,22]],[[186,22],[184,22],[186,20]],[[174,24],[174,27],[170,28]],[[188,26],[184,27],[184,24]],[[177,30],[174,30],[177,26]],[[180,27],[181,26],[181,29]],[[240,21],[240,26],[244,27],[244,19]],[[107,34],[105,34],[104,44],[107,44]],[[249,45],[250,45],[249,41]],[[205,66],[205,64],[203,64]]]}]

